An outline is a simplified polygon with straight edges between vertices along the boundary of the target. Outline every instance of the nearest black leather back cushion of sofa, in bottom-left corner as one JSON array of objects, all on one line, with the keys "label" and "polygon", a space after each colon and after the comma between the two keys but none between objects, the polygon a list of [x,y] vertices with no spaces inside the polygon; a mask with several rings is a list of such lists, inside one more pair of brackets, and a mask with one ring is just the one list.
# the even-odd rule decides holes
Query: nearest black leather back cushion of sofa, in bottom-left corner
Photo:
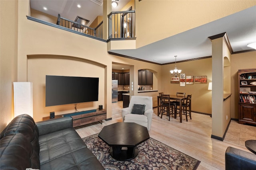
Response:
[{"label": "nearest black leather back cushion of sofa, in bottom-left corner", "polygon": [[26,168],[40,169],[38,154],[22,133],[7,135],[0,140],[1,170]]}]

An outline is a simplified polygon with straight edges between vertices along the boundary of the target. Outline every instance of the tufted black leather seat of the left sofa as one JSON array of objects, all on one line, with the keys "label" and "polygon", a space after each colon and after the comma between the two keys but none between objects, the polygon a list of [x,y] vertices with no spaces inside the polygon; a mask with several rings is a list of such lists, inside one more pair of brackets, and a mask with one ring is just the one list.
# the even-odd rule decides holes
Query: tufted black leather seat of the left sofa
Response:
[{"label": "tufted black leather seat of the left sofa", "polygon": [[41,170],[104,169],[73,128],[39,136]]}]

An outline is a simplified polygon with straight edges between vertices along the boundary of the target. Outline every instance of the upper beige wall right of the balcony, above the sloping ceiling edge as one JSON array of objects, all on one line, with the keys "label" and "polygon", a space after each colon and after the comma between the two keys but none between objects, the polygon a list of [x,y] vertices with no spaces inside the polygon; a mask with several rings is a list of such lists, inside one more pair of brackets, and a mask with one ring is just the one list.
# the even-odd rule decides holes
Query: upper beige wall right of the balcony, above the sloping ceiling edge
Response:
[{"label": "upper beige wall right of the balcony, above the sloping ceiling edge", "polygon": [[255,0],[136,0],[136,48],[255,5]]}]

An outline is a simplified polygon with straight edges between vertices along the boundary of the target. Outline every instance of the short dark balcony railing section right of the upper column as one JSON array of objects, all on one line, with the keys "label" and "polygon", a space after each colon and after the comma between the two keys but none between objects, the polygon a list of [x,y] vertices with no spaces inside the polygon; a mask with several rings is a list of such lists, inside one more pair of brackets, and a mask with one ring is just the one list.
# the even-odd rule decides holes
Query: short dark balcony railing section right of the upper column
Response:
[{"label": "short dark balcony railing section right of the upper column", "polygon": [[108,15],[108,39],[135,37],[135,11],[111,12]]}]

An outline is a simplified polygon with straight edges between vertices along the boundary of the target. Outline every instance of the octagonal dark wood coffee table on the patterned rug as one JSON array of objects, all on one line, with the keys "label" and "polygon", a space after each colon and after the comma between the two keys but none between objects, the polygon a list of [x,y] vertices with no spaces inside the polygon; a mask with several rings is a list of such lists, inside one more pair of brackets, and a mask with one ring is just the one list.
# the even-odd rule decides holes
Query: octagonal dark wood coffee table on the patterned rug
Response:
[{"label": "octagonal dark wood coffee table on the patterned rug", "polygon": [[103,127],[98,137],[110,146],[110,155],[120,161],[132,160],[138,155],[142,142],[149,139],[148,129],[137,123],[118,122]]}]

